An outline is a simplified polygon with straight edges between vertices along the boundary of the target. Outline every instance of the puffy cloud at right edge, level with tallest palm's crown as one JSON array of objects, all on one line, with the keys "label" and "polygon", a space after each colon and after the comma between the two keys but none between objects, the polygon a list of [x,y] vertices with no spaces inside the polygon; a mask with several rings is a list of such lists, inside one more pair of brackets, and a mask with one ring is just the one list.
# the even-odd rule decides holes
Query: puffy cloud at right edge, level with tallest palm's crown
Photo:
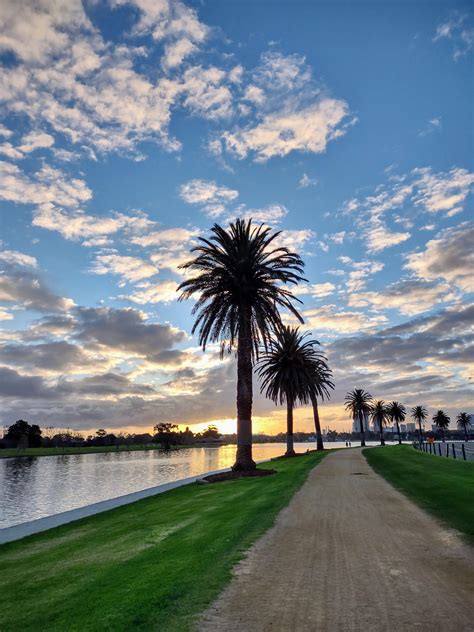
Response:
[{"label": "puffy cloud at right edge, level with tallest palm's crown", "polygon": [[425,250],[406,256],[405,268],[420,279],[443,279],[464,292],[472,292],[474,270],[474,225],[462,223],[440,232]]}]

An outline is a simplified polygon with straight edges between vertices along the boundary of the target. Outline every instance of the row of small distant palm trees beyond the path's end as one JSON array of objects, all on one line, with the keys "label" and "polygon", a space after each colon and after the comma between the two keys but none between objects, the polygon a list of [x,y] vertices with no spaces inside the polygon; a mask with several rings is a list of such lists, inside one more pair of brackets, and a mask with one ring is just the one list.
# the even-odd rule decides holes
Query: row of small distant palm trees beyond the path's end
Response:
[{"label": "row of small distant palm trees beyond the path's end", "polygon": [[[385,445],[383,429],[389,423],[397,426],[398,443],[402,442],[400,424],[406,419],[406,408],[400,402],[385,403],[383,400],[374,400],[372,395],[361,388],[356,388],[346,395],[346,410],[352,414],[352,418],[360,424],[361,445],[365,446],[365,420],[370,416],[372,422],[380,433],[380,444]],[[414,406],[411,409],[412,419],[418,423],[420,441],[423,441],[422,425],[428,417],[428,411],[423,405]],[[467,413],[459,413],[456,417],[457,426],[464,431],[465,440],[468,440],[468,431],[471,427],[471,417]],[[442,440],[445,440],[445,432],[451,423],[450,417],[443,411],[433,415],[433,423],[441,432]]]}]

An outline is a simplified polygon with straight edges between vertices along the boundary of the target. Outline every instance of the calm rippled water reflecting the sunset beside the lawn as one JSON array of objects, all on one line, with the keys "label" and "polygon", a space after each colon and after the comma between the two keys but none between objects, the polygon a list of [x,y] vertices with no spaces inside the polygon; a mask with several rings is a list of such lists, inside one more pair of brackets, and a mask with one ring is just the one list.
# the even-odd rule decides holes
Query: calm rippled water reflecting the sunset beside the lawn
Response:
[{"label": "calm rippled water reflecting the sunset beside the lawn", "polygon": [[[328,443],[327,447],[344,447]],[[353,445],[355,445],[353,443]],[[297,443],[297,452],[314,444]],[[254,459],[282,454],[285,445],[254,445]],[[107,452],[0,460],[0,528],[84,507],[147,487],[229,467],[235,446],[189,448],[165,454]]]}]

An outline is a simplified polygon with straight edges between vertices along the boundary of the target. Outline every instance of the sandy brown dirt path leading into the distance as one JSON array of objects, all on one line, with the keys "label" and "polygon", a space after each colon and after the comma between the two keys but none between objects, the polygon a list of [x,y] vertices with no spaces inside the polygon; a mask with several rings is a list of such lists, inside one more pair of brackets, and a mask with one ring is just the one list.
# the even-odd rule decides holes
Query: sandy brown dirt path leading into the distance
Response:
[{"label": "sandy brown dirt path leading into the distance", "polygon": [[311,472],[199,630],[465,632],[473,595],[473,549],[360,450],[342,450]]}]

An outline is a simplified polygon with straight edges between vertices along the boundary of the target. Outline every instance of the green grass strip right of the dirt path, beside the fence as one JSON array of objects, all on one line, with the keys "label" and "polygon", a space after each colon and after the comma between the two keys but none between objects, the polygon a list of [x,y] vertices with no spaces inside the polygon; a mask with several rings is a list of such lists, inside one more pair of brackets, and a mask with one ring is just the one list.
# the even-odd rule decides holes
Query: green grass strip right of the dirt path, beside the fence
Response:
[{"label": "green grass strip right of the dirt path, beside the fence", "polygon": [[389,483],[474,544],[474,463],[407,445],[370,448],[364,456]]}]

